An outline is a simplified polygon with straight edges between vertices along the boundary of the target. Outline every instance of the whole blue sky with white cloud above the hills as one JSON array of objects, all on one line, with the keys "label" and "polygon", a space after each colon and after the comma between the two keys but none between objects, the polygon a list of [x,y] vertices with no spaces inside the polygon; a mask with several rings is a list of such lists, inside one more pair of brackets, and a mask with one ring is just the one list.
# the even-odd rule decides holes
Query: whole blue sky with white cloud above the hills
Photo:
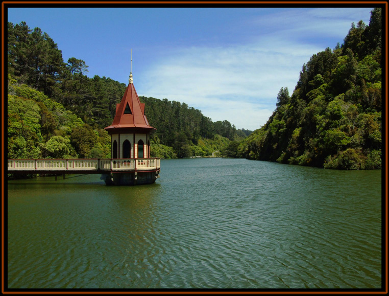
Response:
[{"label": "whole blue sky with white cloud above the hills", "polygon": [[[255,130],[293,93],[313,54],[343,43],[373,7],[8,8],[58,44],[86,75],[128,84],[138,96],[186,103],[213,122]],[[131,66],[132,50],[132,66]]]}]

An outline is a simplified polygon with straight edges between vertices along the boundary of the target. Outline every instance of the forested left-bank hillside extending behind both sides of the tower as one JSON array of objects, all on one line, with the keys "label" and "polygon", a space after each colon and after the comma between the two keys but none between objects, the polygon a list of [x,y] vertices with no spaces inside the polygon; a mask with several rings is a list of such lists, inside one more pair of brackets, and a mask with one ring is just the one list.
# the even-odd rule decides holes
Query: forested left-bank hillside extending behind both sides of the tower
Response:
[{"label": "forested left-bank hillside extending behind both sides of the tower", "polygon": [[[110,158],[116,104],[127,87],[88,78],[85,61],[69,58],[47,33],[8,22],[8,158]],[[251,131],[227,120],[212,122],[185,103],[140,97],[157,128],[151,156],[206,156]]]}]

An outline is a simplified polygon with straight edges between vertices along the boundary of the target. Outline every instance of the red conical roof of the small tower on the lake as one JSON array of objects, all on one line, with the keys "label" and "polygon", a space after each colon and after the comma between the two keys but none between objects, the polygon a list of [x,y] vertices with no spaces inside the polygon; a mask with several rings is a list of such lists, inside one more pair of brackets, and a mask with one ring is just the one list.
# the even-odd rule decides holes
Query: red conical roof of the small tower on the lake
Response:
[{"label": "red conical roof of the small tower on the lake", "polygon": [[132,79],[130,79],[130,83],[127,86],[120,104],[116,105],[116,115],[112,124],[105,129],[112,132],[116,128],[155,129],[149,125],[149,122],[144,115],[144,103],[140,103]]}]

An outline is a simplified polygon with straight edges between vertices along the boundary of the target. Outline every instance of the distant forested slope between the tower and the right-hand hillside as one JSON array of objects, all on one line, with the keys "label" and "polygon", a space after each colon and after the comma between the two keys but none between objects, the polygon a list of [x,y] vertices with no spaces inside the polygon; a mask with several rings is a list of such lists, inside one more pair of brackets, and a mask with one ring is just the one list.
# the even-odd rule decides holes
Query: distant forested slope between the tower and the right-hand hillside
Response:
[{"label": "distant forested slope between the tower and the right-hand hillside", "polygon": [[[210,118],[203,116],[200,110],[188,107],[185,103],[147,97],[139,97],[139,100],[145,103],[145,115],[149,123],[157,129],[153,137],[158,138],[159,145],[172,147],[176,157],[208,156],[220,150],[215,148],[215,143],[220,142],[215,139],[223,138],[223,141],[227,142],[240,140],[246,137],[246,133],[251,132],[237,130],[227,120],[213,123]],[[223,147],[226,145],[222,144]],[[169,152],[164,156],[167,157],[173,156]]]}]

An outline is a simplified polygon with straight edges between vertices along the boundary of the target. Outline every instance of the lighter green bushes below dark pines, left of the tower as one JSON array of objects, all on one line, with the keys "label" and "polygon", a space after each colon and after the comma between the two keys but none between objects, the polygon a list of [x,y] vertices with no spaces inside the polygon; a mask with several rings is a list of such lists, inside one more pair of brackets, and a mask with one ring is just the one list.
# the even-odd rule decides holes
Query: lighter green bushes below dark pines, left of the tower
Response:
[{"label": "lighter green bushes below dark pines, left of the tower", "polygon": [[11,76],[8,83],[9,92],[17,94],[8,95],[8,158],[110,157],[107,131],[93,130],[60,103]]}]

